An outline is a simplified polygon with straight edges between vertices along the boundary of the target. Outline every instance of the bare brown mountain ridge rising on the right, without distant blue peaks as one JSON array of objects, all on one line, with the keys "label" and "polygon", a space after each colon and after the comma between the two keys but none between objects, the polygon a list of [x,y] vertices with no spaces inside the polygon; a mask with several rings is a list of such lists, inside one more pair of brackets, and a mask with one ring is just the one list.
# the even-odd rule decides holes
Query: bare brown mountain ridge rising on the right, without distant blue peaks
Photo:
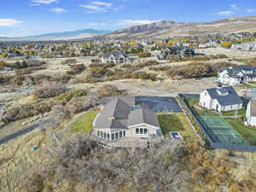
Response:
[{"label": "bare brown mountain ridge rising on the right, without distant blue peaks", "polygon": [[161,20],[130,26],[105,35],[107,39],[147,38],[154,36],[195,35],[207,33],[256,32],[256,16],[232,17],[212,22],[175,22]]}]

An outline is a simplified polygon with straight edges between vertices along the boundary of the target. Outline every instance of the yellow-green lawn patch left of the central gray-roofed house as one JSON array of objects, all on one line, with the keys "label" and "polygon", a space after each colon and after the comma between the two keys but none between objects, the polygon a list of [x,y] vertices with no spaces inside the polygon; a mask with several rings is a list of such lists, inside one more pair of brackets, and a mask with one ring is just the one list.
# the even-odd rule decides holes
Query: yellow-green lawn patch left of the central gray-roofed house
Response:
[{"label": "yellow-green lawn patch left of the central gray-roofed house", "polygon": [[82,116],[76,119],[71,127],[74,131],[92,131],[92,122],[96,118],[98,112],[94,109],[85,112]]}]

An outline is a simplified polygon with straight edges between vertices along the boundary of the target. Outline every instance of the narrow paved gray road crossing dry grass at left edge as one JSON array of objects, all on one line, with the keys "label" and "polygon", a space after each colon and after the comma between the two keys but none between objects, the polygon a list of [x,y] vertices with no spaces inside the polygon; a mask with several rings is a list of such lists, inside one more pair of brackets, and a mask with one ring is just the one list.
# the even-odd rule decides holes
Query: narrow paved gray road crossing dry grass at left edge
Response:
[{"label": "narrow paved gray road crossing dry grass at left edge", "polygon": [[53,119],[47,119],[47,120],[44,120],[38,124],[35,124],[35,125],[31,125],[29,127],[27,127],[26,129],[24,130],[21,130],[21,131],[18,131],[18,132],[15,132],[14,134],[11,134],[7,137],[3,137],[2,139],[0,139],[0,145],[1,144],[4,144],[4,143],[7,143],[9,142],[10,140],[16,138],[16,137],[20,137],[22,135],[25,135],[26,133],[30,132],[30,131],[33,131],[35,129],[38,129],[39,127],[42,127],[43,125],[47,124],[47,123],[50,123],[52,122]]}]

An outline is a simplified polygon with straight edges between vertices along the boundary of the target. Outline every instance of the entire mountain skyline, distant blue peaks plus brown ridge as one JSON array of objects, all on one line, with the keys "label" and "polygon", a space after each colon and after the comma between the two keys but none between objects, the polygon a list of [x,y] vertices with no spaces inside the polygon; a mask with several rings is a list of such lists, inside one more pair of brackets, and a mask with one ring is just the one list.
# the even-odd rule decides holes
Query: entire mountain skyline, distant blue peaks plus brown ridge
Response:
[{"label": "entire mountain skyline, distant blue peaks plus brown ridge", "polygon": [[175,22],[160,20],[150,24],[130,26],[115,32],[108,30],[82,29],[70,32],[47,33],[22,38],[0,40],[74,40],[74,39],[128,39],[154,36],[195,35],[208,33],[256,32],[256,16],[232,17],[212,22]]}]

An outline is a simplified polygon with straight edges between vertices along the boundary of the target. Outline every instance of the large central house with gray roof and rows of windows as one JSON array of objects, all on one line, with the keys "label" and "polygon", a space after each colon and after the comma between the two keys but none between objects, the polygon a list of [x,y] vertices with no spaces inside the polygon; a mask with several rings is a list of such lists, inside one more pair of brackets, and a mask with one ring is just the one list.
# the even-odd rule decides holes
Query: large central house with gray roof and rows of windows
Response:
[{"label": "large central house with gray roof and rows of windows", "polygon": [[135,97],[131,96],[116,97],[105,104],[93,122],[93,130],[96,140],[109,146],[117,141],[127,142],[125,138],[136,141],[162,137],[156,114],[136,105]]}]

